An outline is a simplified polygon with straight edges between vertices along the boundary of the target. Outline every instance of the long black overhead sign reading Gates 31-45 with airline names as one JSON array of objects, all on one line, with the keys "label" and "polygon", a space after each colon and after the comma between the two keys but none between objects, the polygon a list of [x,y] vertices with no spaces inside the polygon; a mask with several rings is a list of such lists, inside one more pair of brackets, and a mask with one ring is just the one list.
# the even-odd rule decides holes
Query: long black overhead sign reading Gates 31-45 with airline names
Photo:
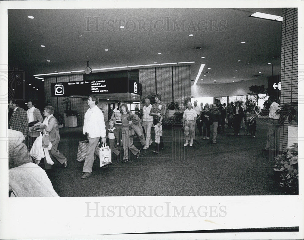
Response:
[{"label": "long black overhead sign reading Gates 31-45 with airline names", "polygon": [[127,77],[51,83],[51,88],[52,97],[126,92],[139,94],[140,92],[139,84]]}]

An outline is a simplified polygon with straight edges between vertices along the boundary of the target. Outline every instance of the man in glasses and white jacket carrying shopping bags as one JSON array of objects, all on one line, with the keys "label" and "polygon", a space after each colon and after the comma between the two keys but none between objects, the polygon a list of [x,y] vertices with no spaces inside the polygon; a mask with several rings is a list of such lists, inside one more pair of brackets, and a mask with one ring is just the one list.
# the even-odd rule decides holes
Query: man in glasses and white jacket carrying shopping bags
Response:
[{"label": "man in glasses and white jacket carrying shopping bags", "polygon": [[85,164],[83,166],[82,172],[84,174],[81,176],[82,179],[90,177],[92,174],[92,166],[94,163],[94,153],[98,145],[98,141],[101,137],[102,143],[106,142],[105,139],[105,119],[103,113],[98,108],[99,98],[96,96],[89,96],[88,105],[89,109],[85,113],[85,122],[83,125],[83,134],[87,134],[89,143],[87,148],[87,153],[85,156]]}]

